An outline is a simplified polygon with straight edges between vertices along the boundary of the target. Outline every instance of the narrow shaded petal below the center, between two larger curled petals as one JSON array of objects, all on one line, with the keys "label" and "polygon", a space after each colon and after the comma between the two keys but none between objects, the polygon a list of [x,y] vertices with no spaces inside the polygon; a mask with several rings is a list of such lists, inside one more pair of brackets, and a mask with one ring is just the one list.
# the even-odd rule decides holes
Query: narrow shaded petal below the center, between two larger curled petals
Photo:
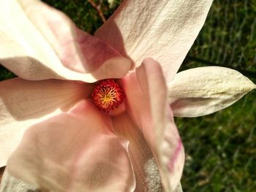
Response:
[{"label": "narrow shaded petal below the center, between two larger curled petals", "polygon": [[128,152],[135,172],[136,192],[162,192],[157,163],[140,128],[132,122],[127,112],[113,117],[113,130],[129,140]]}]

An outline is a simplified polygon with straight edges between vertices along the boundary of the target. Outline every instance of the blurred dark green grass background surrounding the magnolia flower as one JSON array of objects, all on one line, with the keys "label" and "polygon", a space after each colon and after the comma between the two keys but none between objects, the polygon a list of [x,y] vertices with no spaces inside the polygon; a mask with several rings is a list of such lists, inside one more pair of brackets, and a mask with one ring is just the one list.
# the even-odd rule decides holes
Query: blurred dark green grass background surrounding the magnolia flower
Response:
[{"label": "blurred dark green grass background surrounding the magnolia flower", "polygon": [[[93,34],[102,20],[87,0],[45,0]],[[99,1],[94,1],[99,4]],[[108,18],[120,4],[102,1]],[[215,0],[205,26],[180,70],[227,66],[256,82],[256,0]],[[15,77],[0,66],[0,80]],[[176,118],[187,161],[184,191],[256,191],[256,91],[225,110],[200,118]]]}]

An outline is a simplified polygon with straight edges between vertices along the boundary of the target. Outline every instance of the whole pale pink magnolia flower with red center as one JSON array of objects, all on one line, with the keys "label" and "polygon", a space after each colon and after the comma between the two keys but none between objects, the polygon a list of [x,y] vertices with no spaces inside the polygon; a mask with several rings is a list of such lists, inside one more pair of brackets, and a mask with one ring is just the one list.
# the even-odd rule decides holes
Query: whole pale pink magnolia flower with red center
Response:
[{"label": "whole pale pink magnolia flower with red center", "polygon": [[255,88],[227,68],[176,74],[211,0],[124,0],[94,37],[41,1],[0,5],[0,62],[18,75],[0,83],[2,191],[181,191],[173,114]]}]

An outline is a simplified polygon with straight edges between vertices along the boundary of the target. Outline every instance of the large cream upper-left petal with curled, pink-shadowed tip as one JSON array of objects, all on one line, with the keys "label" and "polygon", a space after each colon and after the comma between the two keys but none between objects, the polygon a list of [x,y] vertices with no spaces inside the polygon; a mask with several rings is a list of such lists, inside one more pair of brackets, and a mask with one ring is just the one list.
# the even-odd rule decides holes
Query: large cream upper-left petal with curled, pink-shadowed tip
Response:
[{"label": "large cream upper-left petal with curled, pink-shadowed tip", "polygon": [[41,1],[0,0],[0,10],[0,62],[24,79],[94,82],[129,71],[129,59]]}]

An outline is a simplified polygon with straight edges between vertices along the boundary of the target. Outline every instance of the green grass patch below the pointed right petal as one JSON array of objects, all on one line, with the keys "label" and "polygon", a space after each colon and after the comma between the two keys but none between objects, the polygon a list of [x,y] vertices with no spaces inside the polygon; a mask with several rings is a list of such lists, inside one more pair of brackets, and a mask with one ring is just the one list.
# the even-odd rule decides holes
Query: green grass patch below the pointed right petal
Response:
[{"label": "green grass patch below the pointed right petal", "polygon": [[187,154],[184,191],[254,191],[256,93],[200,118],[176,118]]}]

